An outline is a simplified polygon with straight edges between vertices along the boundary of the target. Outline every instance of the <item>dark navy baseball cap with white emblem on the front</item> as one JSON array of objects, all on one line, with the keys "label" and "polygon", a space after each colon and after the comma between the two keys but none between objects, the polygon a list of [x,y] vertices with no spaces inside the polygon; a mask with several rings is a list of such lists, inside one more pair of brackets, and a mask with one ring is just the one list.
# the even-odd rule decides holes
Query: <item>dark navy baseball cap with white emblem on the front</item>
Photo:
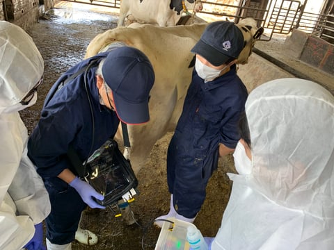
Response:
[{"label": "dark navy baseball cap with white emblem on the front", "polygon": [[244,35],[234,22],[217,21],[210,23],[191,52],[197,53],[214,66],[238,58],[244,49]]}]

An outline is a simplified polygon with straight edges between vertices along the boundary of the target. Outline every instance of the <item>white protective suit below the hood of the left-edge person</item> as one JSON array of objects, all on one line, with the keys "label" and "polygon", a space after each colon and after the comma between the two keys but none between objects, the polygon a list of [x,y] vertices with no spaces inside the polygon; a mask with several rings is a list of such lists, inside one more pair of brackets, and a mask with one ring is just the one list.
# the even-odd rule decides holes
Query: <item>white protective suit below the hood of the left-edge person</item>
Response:
[{"label": "white protective suit below the hood of the left-edge person", "polygon": [[28,135],[18,113],[0,115],[0,136],[0,249],[21,249],[49,214],[49,197],[26,156]]}]

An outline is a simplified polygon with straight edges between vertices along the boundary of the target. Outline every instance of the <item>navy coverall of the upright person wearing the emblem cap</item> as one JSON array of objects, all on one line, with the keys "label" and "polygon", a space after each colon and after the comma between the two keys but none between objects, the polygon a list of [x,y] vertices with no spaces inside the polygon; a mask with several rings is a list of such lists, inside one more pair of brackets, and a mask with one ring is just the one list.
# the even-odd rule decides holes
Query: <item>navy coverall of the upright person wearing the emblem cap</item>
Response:
[{"label": "navy coverall of the upright person wearing the emblem cap", "polygon": [[236,66],[214,81],[193,78],[167,154],[168,190],[179,215],[193,218],[205,201],[205,188],[218,166],[218,144],[234,149],[239,117],[248,96]]}]

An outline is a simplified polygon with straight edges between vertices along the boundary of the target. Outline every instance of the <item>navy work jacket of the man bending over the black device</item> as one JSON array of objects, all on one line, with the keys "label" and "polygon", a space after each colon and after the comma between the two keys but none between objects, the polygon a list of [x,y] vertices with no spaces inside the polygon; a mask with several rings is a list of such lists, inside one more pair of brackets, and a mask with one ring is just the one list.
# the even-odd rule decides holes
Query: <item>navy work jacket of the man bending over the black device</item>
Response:
[{"label": "navy work jacket of the man bending over the black device", "polygon": [[[115,135],[120,120],[115,112],[100,104],[95,75],[97,66],[69,81],[48,101],[49,95],[58,83],[78,72],[95,58],[105,58],[107,53],[100,53],[72,67],[58,78],[49,91],[38,125],[28,142],[29,157],[37,166],[37,172],[42,178],[58,176],[66,168],[73,171],[66,155],[70,144],[84,161],[108,138]],[[94,126],[91,111],[94,115]]]}]

